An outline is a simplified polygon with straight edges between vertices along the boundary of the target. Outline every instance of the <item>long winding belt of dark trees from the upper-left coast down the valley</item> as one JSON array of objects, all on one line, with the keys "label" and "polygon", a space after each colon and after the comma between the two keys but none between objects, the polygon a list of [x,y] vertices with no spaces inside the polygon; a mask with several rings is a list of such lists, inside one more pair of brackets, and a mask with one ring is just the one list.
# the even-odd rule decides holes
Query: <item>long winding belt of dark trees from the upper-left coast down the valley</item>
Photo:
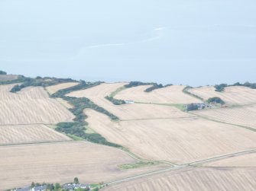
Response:
[{"label": "long winding belt of dark trees from the upper-left coast down the valley", "polygon": [[[67,78],[25,78],[22,77],[23,83],[21,85],[15,85],[14,88],[11,89],[11,92],[17,92],[20,91],[22,88],[28,87],[28,86],[50,86],[54,84],[60,84],[64,82],[74,82],[72,79]],[[88,140],[90,142],[96,142],[102,145],[109,145],[113,147],[121,147],[120,145],[107,142],[105,138],[102,137],[102,135],[99,135],[98,133],[86,133],[86,126],[88,125],[85,122],[86,115],[83,112],[86,108],[90,108],[92,110],[96,110],[100,113],[104,113],[105,115],[109,116],[113,120],[118,120],[118,117],[113,115],[112,113],[109,113],[109,111],[105,110],[102,107],[99,107],[95,103],[93,103],[91,100],[89,100],[86,97],[66,97],[66,94],[69,94],[71,91],[78,91],[83,90],[86,88],[92,88],[93,86],[96,86],[98,84],[101,84],[101,81],[96,82],[86,82],[86,81],[80,81],[79,84],[76,86],[66,88],[60,91],[57,91],[55,94],[53,94],[51,97],[60,97],[64,100],[69,101],[71,104],[73,104],[73,108],[70,109],[70,111],[76,116],[73,123],[58,123],[57,124],[57,131],[64,132],[68,135],[76,135],[79,138],[83,138],[85,140]]]}]

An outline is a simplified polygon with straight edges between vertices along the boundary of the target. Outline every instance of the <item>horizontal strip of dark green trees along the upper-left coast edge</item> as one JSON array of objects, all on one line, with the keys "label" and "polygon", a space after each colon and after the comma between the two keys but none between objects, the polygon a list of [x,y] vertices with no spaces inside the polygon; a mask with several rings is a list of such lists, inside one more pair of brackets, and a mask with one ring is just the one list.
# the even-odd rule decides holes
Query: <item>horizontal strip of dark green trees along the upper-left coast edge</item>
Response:
[{"label": "horizontal strip of dark green trees along the upper-left coast edge", "polygon": [[65,82],[74,82],[75,80],[71,78],[50,78],[50,77],[42,78],[40,76],[37,76],[37,78],[26,78],[23,76],[21,78],[21,81],[23,82],[22,84],[17,84],[13,88],[11,88],[12,93],[21,91],[22,88],[27,88],[29,86],[47,87],[50,85],[55,85],[55,84],[60,84]]}]

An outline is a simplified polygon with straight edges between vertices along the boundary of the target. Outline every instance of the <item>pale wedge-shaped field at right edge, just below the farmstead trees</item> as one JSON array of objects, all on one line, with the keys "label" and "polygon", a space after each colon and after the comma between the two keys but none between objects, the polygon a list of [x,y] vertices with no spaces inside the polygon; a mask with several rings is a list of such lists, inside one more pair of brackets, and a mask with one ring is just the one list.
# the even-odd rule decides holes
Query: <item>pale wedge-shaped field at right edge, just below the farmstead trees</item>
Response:
[{"label": "pale wedge-shaped field at right edge, just below the farmstead trees", "polygon": [[193,111],[196,115],[256,129],[256,105]]}]

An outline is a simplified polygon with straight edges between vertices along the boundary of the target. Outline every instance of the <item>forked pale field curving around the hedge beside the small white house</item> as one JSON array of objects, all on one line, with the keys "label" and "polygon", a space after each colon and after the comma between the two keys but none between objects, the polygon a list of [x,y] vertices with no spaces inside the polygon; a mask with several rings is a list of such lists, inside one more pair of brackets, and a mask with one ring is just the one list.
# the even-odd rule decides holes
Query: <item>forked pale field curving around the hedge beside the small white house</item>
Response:
[{"label": "forked pale field curving around the hedge beside the small white house", "polygon": [[183,113],[175,107],[168,107],[156,104],[131,103],[114,105],[105,96],[111,94],[117,88],[124,86],[125,83],[100,84],[96,87],[82,91],[73,91],[68,96],[87,97],[100,107],[105,108],[123,120],[131,119],[163,119],[173,117],[190,117],[189,113]]}]

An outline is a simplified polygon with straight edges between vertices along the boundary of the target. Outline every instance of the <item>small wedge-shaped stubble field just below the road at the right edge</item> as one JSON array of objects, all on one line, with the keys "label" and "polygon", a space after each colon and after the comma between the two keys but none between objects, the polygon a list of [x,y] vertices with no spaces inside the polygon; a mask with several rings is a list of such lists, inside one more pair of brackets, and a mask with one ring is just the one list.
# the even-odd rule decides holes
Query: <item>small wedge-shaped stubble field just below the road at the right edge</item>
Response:
[{"label": "small wedge-shaped stubble field just below the road at the right edge", "polygon": [[204,166],[211,167],[256,167],[256,153],[244,154],[219,161],[213,161]]}]

